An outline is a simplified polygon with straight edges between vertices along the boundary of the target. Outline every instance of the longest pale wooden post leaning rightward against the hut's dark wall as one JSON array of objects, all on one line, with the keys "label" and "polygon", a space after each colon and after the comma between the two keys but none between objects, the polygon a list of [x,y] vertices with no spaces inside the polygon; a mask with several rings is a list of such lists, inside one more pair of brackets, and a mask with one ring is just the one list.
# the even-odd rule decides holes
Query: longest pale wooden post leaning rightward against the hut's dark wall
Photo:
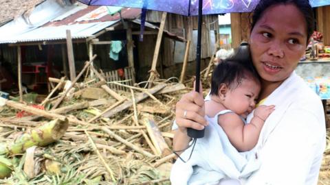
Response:
[{"label": "longest pale wooden post leaning rightward against the hut's dark wall", "polygon": [[157,35],[157,41],[156,41],[156,47],[155,47],[155,52],[153,53],[153,63],[151,65],[151,70],[150,70],[150,77],[148,79],[149,83],[149,88],[152,86],[152,82],[156,77],[157,77],[157,59],[158,59],[158,54],[159,54],[159,48],[160,44],[162,43],[162,37],[163,37],[163,31],[164,31],[164,26],[165,26],[165,21],[166,21],[166,12],[163,12],[162,14],[162,21],[160,22],[159,26],[159,31]]}]

